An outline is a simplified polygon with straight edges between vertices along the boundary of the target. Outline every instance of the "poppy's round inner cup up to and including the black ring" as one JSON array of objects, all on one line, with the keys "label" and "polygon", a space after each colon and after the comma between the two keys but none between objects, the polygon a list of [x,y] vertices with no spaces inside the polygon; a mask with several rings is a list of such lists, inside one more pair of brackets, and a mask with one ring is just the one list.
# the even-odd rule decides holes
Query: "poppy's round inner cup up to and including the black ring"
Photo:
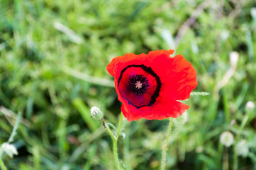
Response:
[{"label": "poppy's round inner cup up to and including the black ring", "polygon": [[121,96],[130,105],[142,108],[156,102],[162,82],[151,67],[131,64],[121,70],[117,86]]}]

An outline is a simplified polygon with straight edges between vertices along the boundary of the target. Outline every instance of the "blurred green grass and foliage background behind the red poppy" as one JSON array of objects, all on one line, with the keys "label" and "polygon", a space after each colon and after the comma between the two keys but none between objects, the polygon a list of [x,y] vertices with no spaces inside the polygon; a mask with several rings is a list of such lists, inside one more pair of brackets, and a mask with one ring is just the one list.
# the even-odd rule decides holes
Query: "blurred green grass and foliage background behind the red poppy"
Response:
[{"label": "blurred green grass and foliage background behind the red poppy", "polygon": [[[255,0],[0,0],[0,144],[9,169],[115,169],[111,138],[89,108],[118,123],[121,103],[106,64],[133,52],[172,48],[199,85],[176,123],[167,169],[256,169]],[[238,52],[239,59],[230,52]],[[230,62],[231,61],[231,62]],[[8,108],[9,110],[6,110]],[[128,123],[118,140],[127,169],[159,169],[168,120]],[[224,131],[233,145],[220,142]],[[242,142],[241,141],[245,141]],[[242,152],[241,152],[242,150]]]}]

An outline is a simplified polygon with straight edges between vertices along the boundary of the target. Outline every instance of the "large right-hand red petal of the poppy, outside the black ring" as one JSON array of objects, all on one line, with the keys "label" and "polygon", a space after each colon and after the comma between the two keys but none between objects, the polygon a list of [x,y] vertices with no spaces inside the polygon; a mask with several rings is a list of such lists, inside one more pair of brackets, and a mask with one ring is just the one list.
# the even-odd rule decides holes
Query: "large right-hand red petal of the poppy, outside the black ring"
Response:
[{"label": "large right-hand red petal of the poppy, outside the black ring", "polygon": [[[182,55],[151,57],[150,66],[160,77],[160,96],[173,100],[185,100],[197,86],[196,70]],[[164,64],[164,67],[163,67]]]}]

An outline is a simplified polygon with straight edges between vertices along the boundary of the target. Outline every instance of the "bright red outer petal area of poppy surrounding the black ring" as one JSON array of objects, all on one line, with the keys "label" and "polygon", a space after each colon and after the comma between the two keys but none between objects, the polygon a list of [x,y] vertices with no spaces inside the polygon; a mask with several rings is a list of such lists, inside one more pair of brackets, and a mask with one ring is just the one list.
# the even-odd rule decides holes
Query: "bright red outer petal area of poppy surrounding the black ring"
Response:
[{"label": "bright red outer petal area of poppy surrounding the black ring", "polygon": [[[176,100],[189,98],[191,91],[196,88],[196,71],[182,55],[169,57],[173,52],[174,50],[160,50],[149,52],[148,55],[130,53],[116,57],[108,64],[109,74],[115,77],[118,100],[123,103],[121,111],[129,121],[140,118],[149,120],[177,118],[189,108],[189,106]],[[117,82],[121,71],[131,64],[144,64],[146,67],[151,67],[160,77],[162,83],[160,96],[157,97],[157,101],[152,106],[136,108],[130,105],[118,91]]]}]

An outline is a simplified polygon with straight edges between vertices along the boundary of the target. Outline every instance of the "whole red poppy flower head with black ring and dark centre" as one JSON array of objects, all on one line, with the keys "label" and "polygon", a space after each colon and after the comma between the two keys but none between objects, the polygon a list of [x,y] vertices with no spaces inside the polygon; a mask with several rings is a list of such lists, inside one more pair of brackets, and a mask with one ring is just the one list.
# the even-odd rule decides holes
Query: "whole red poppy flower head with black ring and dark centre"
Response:
[{"label": "whole red poppy flower head with black ring and dark centre", "polygon": [[196,70],[182,55],[169,57],[173,52],[130,53],[113,58],[107,65],[128,121],[177,118],[189,108],[179,101],[189,98],[196,88]]}]

